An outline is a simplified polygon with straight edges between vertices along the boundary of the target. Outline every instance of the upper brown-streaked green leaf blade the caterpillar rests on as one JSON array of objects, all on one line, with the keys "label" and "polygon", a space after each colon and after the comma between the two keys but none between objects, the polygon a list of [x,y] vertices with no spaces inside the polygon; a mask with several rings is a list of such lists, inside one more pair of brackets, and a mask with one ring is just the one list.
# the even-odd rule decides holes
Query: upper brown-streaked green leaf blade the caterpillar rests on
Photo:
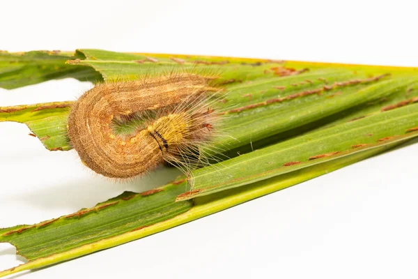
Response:
[{"label": "upper brown-streaked green leaf blade the caterpillar rests on", "polygon": [[[258,148],[277,142],[278,138],[291,137],[326,123],[364,116],[364,113],[378,112],[385,105],[418,96],[417,90],[410,91],[409,96],[406,96],[406,91],[412,88],[414,82],[413,78],[409,80],[410,77],[403,76],[411,73],[411,68],[330,66],[289,61],[284,63],[285,69],[297,66],[298,70],[309,70],[282,77],[276,75],[277,71],[272,69],[281,69],[283,65],[268,60],[179,57],[169,54],[150,56],[102,50],[79,50],[77,56],[85,56],[86,59],[71,60],[71,63],[93,66],[107,80],[137,78],[138,75],[144,75],[149,71],[157,74],[161,73],[160,71],[164,72],[167,65],[171,70],[185,70],[184,67],[188,65],[194,67],[194,71],[197,72],[218,71],[221,80],[231,80],[233,77],[233,82],[223,85],[227,92],[226,103],[218,104],[220,110],[226,110],[226,115],[231,116],[223,121],[222,134],[226,137],[220,137],[211,146],[211,149],[218,152],[219,149],[233,149],[233,152],[228,153],[230,157],[236,156],[237,152],[249,151],[250,142]],[[183,59],[184,62],[178,63],[170,57]],[[196,61],[206,63],[196,64]],[[216,64],[222,61],[229,63]],[[198,66],[201,69],[196,68]],[[150,67],[153,70],[150,70]],[[392,77],[385,76],[387,74],[391,74]],[[238,82],[239,80],[241,82]],[[362,90],[366,88],[369,89]],[[26,110],[22,110],[22,106],[0,107],[0,121],[26,123],[47,149],[68,150],[70,146],[65,135],[64,119],[68,114],[65,107],[69,107],[70,104],[44,103],[31,105]],[[250,108],[251,105],[257,104],[258,107]],[[49,116],[59,115],[62,116],[59,119],[49,119]],[[51,125],[52,123],[56,123],[56,126]],[[248,133],[249,130],[251,133]],[[209,150],[207,152],[213,153]]]}]

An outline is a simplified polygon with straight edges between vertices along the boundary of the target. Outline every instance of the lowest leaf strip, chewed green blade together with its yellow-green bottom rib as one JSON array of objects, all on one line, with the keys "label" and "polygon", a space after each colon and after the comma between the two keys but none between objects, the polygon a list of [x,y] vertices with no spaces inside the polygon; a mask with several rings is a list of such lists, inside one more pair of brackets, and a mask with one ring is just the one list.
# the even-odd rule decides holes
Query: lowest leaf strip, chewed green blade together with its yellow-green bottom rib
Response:
[{"label": "lowest leaf strip, chewed green blade together with its yellow-green bottom rib", "polygon": [[[185,189],[185,183],[183,182],[163,186],[159,188],[163,189],[162,191],[153,193],[149,197],[141,197],[141,194],[123,193],[123,195],[98,204],[98,206],[91,209],[84,209],[78,213],[74,213],[70,218],[68,216],[62,216],[61,218],[48,220],[36,225],[20,225],[0,229],[0,242],[7,241],[12,243],[17,247],[18,254],[22,253],[22,255],[29,258],[29,262],[26,264],[21,264],[6,271],[0,271],[0,277],[28,269],[38,269],[118,246],[129,241],[141,239],[144,236],[182,225],[212,213],[228,209],[242,202],[255,199],[256,197],[268,195],[277,190],[282,190],[297,183],[313,179],[316,176],[327,174],[346,165],[381,153],[395,145],[394,143],[385,144],[377,149],[366,150],[338,158],[332,162],[324,162],[299,169],[293,173],[275,176],[266,181],[226,190],[214,195],[197,197],[193,203],[188,201],[173,202],[173,199],[176,198],[175,195]],[[148,194],[145,193],[145,195]],[[161,197],[162,195],[164,195],[164,198]],[[129,199],[130,197],[132,199]],[[167,202],[171,201],[171,203],[161,204],[160,199],[165,199]],[[153,202],[157,202],[161,207],[156,208]],[[179,207],[173,209],[173,206],[176,204]],[[100,209],[100,206],[104,207]],[[146,212],[146,206],[148,206],[148,209],[151,207],[152,210]],[[125,213],[124,208],[130,209],[130,211]],[[181,211],[183,213],[180,213]],[[146,218],[146,216],[153,216],[154,213],[157,214],[155,219]],[[174,216],[174,213],[178,213],[178,215]],[[109,222],[107,220],[109,216],[115,216],[114,223],[107,224]],[[135,220],[134,216],[140,219]],[[157,220],[157,223],[155,223],[155,220]],[[137,222],[136,225],[138,227],[133,227],[132,222]],[[102,234],[104,235],[102,235],[102,239],[98,239],[97,237],[100,234],[100,227],[94,229],[92,224],[103,228]],[[92,234],[89,234],[90,231],[84,234],[84,229],[89,228]],[[77,234],[72,234],[75,231],[81,233],[84,238],[81,235],[77,236]],[[117,231],[120,234],[115,233]],[[109,234],[107,234],[108,232]],[[63,247],[62,250],[61,247]],[[36,249],[40,251],[36,252]]]}]

